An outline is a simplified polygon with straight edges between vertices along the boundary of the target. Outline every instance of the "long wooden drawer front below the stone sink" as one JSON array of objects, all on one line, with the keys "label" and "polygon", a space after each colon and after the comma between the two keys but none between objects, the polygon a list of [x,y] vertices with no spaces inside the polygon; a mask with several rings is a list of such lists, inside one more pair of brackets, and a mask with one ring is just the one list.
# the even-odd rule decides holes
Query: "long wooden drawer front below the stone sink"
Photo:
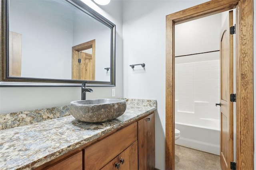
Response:
[{"label": "long wooden drawer front below the stone sink", "polygon": [[137,122],[84,149],[85,170],[98,170],[137,140]]}]

